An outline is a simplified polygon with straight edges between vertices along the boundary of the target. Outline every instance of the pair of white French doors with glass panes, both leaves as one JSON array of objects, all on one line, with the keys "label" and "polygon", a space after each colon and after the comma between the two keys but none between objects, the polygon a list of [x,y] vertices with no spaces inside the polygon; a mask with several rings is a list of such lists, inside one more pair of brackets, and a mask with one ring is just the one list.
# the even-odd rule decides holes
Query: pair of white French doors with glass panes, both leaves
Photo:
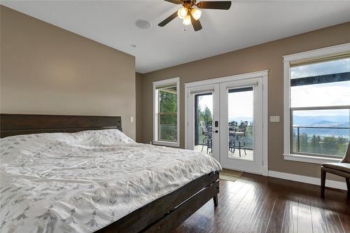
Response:
[{"label": "pair of white French doors with glass panes, both leaves", "polygon": [[263,78],[186,87],[186,148],[213,156],[223,168],[263,174]]}]

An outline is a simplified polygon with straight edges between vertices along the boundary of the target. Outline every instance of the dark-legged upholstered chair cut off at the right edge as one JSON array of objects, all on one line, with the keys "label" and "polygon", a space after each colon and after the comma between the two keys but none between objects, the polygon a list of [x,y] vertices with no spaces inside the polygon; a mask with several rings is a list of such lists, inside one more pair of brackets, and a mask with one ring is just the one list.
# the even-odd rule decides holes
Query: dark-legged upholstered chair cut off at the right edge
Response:
[{"label": "dark-legged upholstered chair cut off at the right edge", "polygon": [[346,149],[345,156],[340,162],[326,162],[321,165],[321,197],[325,196],[325,174],[326,172],[336,174],[345,178],[350,198],[350,142]]}]

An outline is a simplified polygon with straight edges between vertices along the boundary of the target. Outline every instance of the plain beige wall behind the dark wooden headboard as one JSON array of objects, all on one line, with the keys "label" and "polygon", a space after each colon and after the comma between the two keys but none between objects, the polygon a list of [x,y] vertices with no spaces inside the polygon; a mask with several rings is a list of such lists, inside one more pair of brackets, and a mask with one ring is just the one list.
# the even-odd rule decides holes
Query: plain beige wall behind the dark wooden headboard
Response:
[{"label": "plain beige wall behind the dark wooden headboard", "polygon": [[135,138],[135,59],[1,6],[1,113],[121,115]]}]

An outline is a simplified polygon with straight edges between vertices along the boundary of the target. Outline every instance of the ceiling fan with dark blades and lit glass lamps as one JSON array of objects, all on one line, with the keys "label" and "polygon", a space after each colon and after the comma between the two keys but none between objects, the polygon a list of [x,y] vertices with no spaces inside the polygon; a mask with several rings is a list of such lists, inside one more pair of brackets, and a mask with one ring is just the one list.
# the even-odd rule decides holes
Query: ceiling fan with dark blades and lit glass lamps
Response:
[{"label": "ceiling fan with dark blades and lit glass lamps", "polygon": [[200,16],[202,10],[200,9],[217,9],[217,10],[228,10],[231,7],[231,1],[201,1],[197,3],[197,0],[165,0],[174,4],[181,4],[183,8],[177,10],[172,15],[167,17],[165,20],[158,24],[159,27],[164,27],[170,21],[174,20],[176,16],[179,16],[183,20],[183,24],[190,25],[192,23],[195,31],[202,29],[200,24]]}]

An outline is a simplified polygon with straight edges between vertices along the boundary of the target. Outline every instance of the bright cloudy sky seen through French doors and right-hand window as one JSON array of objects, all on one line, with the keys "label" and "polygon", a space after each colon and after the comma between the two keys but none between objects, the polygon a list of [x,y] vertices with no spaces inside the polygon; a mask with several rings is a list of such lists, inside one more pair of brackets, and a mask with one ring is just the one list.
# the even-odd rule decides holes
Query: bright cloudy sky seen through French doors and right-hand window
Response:
[{"label": "bright cloudy sky seen through French doors and right-hand window", "polygon": [[[350,58],[294,66],[290,68],[290,78],[303,78],[330,73],[350,72]],[[290,90],[292,107],[350,105],[350,81],[303,85]],[[234,92],[228,94],[229,118],[251,118],[253,116],[253,93]],[[213,113],[212,95],[202,96],[200,107],[205,106]],[[349,115],[349,111],[300,111],[297,115]]]}]

